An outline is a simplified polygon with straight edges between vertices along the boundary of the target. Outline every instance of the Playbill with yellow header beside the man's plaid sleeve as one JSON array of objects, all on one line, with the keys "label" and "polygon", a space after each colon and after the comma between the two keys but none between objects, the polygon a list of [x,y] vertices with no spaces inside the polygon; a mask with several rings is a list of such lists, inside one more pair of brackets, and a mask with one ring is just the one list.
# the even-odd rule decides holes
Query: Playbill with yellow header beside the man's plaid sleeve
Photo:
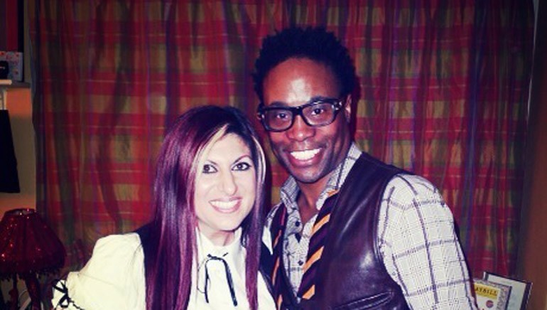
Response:
[{"label": "Playbill with yellow header beside the man's plaid sleeve", "polygon": [[489,282],[484,279],[473,279],[475,298],[479,310],[507,310],[511,287]]}]

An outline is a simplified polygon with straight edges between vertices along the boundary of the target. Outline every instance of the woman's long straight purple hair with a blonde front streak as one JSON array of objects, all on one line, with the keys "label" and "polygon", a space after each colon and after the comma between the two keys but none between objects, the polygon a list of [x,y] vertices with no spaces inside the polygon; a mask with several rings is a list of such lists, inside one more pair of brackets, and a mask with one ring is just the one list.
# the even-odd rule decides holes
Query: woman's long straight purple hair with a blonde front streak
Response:
[{"label": "woman's long straight purple hair with a blonde front streak", "polygon": [[[223,132],[223,134],[218,134]],[[233,107],[203,106],[188,110],[170,127],[158,156],[153,184],[155,216],[143,238],[148,309],[186,309],[190,296],[192,260],[196,255],[193,207],[197,162],[210,144],[237,134],[249,146],[256,167],[256,197],[242,222],[246,292],[250,309],[257,309],[257,277],[264,200],[264,152],[247,117]]]}]

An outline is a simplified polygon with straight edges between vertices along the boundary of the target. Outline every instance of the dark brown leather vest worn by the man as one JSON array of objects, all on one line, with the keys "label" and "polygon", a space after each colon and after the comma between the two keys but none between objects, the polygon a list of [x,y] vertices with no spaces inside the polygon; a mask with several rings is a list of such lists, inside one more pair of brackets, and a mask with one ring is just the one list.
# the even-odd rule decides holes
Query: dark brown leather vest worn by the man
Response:
[{"label": "dark brown leather vest worn by the man", "polygon": [[[315,295],[297,304],[281,264],[281,308],[408,309],[401,288],[384,267],[377,245],[380,200],[387,183],[401,172],[364,153],[357,159],[337,197],[333,197],[337,201],[318,262]],[[278,210],[281,208],[284,205]]]}]

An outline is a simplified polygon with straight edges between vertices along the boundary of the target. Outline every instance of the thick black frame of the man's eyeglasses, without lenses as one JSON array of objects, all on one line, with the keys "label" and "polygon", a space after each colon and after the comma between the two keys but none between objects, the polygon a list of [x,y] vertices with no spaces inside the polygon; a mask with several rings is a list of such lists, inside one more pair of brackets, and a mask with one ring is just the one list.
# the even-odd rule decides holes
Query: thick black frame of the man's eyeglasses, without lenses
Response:
[{"label": "thick black frame of the man's eyeglasses, without lenses", "polygon": [[[308,122],[308,119],[303,114],[303,109],[305,109],[306,107],[313,107],[313,105],[319,105],[319,104],[323,104],[323,103],[327,103],[327,104],[332,105],[332,108],[334,109],[334,112],[333,112],[334,114],[332,115],[332,120],[330,122],[328,122],[327,124],[321,124],[321,125],[310,124],[310,122]],[[264,103],[261,102],[259,107],[257,108],[256,117],[260,120],[260,122],[261,122],[262,126],[264,127],[264,129],[266,129],[266,131],[268,131],[268,132],[285,132],[286,130],[291,129],[291,127],[293,127],[293,125],[294,125],[294,120],[296,119],[296,117],[298,115],[300,115],[300,117],[302,118],[304,123],[306,125],[308,125],[309,127],[325,127],[327,125],[332,124],[332,122],[335,121],[335,119],[338,115],[338,112],[340,112],[340,110],[342,109],[342,107],[344,107],[344,105],[345,105],[345,97],[340,97],[340,98],[323,98],[323,97],[322,98],[313,98],[312,100],[306,102],[303,105],[299,105],[298,107],[266,107],[266,105],[264,105]],[[291,124],[289,124],[286,129],[282,129],[282,130],[272,129],[264,121],[264,119],[265,119],[264,112],[266,112],[268,110],[276,110],[276,109],[288,110],[293,115],[293,117],[291,119]]]}]

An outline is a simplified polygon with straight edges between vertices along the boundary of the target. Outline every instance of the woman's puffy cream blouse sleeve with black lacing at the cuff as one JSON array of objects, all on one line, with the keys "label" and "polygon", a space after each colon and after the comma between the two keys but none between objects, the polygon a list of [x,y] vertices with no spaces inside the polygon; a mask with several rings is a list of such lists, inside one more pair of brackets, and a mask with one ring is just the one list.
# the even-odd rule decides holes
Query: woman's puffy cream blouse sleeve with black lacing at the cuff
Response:
[{"label": "woman's puffy cream blouse sleeve with black lacing at the cuff", "polygon": [[146,309],[143,250],[139,235],[99,239],[89,262],[55,284],[55,309]]}]

